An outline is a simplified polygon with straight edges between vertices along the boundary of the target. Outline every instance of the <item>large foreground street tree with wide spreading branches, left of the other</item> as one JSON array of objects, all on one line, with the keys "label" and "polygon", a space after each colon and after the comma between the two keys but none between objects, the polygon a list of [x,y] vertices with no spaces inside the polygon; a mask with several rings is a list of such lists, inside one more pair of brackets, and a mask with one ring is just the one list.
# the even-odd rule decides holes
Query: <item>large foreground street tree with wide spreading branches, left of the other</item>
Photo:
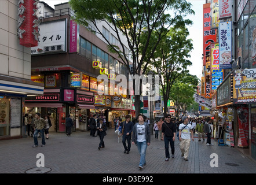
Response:
[{"label": "large foreground street tree with wide spreading branches, left of the other", "polygon": [[[171,27],[190,24],[191,21],[184,17],[195,14],[191,3],[186,0],[70,0],[70,5],[75,12],[76,23],[85,26],[93,24],[96,32],[108,43],[109,50],[118,54],[129,74],[129,65],[132,65],[133,75],[145,73],[149,62],[145,60],[145,56],[153,57],[156,47]],[[120,46],[105,38],[102,27],[97,24],[99,21],[104,21],[115,32]],[[125,43],[120,39],[121,35],[126,37],[131,61],[126,53]],[[139,89],[140,92],[134,96],[136,116],[140,113],[141,83],[140,80],[137,85],[136,80],[133,80],[133,90]]]}]

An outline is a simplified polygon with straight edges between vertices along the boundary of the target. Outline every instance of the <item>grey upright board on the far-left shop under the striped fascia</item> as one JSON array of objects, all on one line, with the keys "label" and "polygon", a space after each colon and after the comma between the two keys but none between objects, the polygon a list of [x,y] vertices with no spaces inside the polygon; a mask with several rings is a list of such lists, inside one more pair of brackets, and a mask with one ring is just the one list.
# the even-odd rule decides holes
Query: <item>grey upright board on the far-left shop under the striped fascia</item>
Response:
[{"label": "grey upright board on the far-left shop under the striped fascia", "polygon": [[21,100],[10,99],[10,127],[20,127],[21,120]]}]

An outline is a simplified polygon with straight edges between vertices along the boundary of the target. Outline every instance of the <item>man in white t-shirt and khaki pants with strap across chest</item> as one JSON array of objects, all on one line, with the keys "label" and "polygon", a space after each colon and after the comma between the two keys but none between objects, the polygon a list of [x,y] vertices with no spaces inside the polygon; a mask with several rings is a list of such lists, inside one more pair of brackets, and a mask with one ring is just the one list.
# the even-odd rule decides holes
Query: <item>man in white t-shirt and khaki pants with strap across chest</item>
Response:
[{"label": "man in white t-shirt and khaki pants with strap across chest", "polygon": [[181,149],[181,157],[184,156],[184,160],[188,161],[188,150],[190,146],[190,137],[193,138],[193,130],[192,125],[188,123],[188,117],[183,116],[182,122],[179,126],[179,140],[180,140],[180,149]]}]

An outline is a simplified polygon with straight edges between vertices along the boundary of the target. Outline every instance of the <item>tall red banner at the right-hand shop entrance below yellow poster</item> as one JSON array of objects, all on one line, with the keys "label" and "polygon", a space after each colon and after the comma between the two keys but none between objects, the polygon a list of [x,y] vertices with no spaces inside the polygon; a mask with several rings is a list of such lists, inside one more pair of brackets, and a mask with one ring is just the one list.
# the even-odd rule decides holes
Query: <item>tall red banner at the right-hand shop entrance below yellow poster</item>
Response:
[{"label": "tall red banner at the right-hand shop entrance below yellow poster", "polygon": [[248,137],[249,137],[249,122],[248,122],[248,108],[246,107],[237,107],[237,120],[239,124],[239,138],[238,146],[244,147],[248,146]]}]

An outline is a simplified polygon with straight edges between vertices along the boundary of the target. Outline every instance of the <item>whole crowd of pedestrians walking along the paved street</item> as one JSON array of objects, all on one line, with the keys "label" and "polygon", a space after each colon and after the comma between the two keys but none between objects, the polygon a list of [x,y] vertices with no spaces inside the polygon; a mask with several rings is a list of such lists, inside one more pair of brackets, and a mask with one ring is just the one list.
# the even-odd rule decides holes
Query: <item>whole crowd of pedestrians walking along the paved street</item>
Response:
[{"label": "whole crowd of pedestrians walking along the paved street", "polygon": [[[52,127],[49,115],[41,117],[40,113],[35,113],[35,118],[29,118],[30,115],[25,114],[24,124],[27,125],[28,136],[30,131],[33,133],[34,145],[38,146],[38,133],[41,133],[42,147],[46,145],[46,139],[49,139],[49,128]],[[122,137],[122,143],[124,151],[123,153],[129,154],[131,150],[131,144],[136,145],[140,160],[138,162],[139,169],[143,169],[146,164],[146,151],[147,146],[151,143],[151,131],[149,124],[150,121],[146,120],[143,114],[139,114],[137,119],[131,121],[130,115],[125,116],[125,121],[122,121],[120,117],[116,117],[114,120],[115,131],[118,130],[119,135]],[[184,157],[185,161],[188,161],[189,146],[194,141],[193,135],[198,134],[198,142],[201,138],[204,140],[204,136],[207,136],[206,145],[213,145],[211,143],[211,120],[204,119],[192,119],[187,116],[176,119],[167,114],[166,117],[159,119],[153,124],[153,131],[155,132],[155,139],[160,137],[163,140],[163,146],[165,149],[165,161],[169,161],[170,157],[174,158],[175,137],[180,142],[181,157]],[[66,118],[66,134],[71,135],[71,128],[74,127],[74,123],[71,119],[71,115],[68,114]],[[90,129],[90,135],[93,137],[99,136],[100,143],[98,150],[105,147],[104,137],[107,135],[107,124],[103,119],[98,118],[96,114],[89,119],[88,127]],[[169,152],[169,144],[171,148],[171,155]]]}]

